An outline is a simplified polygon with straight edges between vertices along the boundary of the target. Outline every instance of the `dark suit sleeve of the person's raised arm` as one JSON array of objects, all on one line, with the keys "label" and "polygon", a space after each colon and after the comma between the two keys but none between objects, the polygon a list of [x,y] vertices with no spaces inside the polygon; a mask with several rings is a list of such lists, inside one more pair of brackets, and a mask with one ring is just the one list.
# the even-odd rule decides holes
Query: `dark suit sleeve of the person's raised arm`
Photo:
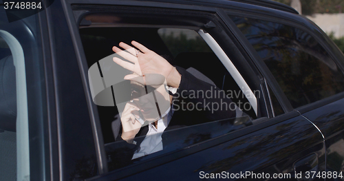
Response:
[{"label": "dark suit sleeve of the person's raised arm", "polygon": [[199,111],[209,121],[235,118],[235,103],[225,96],[223,90],[201,81],[182,67],[176,66],[176,69],[182,79],[178,91],[173,95],[174,109],[190,111],[193,108],[194,114]]}]

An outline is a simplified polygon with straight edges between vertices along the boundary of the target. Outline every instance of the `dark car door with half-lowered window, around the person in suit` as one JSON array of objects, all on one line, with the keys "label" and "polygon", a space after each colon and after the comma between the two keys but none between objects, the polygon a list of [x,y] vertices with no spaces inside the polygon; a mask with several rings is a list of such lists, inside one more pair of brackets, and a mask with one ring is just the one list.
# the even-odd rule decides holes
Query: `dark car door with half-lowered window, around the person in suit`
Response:
[{"label": "dark car door with half-lowered window, around the person in suit", "polygon": [[[117,3],[119,2],[122,6],[118,6]],[[325,147],[321,132],[309,120],[301,116],[298,111],[288,107],[286,98],[283,98],[283,95],[280,94],[281,91],[278,92],[280,88],[276,82],[272,81],[271,75],[266,72],[261,73],[255,67],[254,61],[257,61],[257,58],[252,56],[252,54],[257,53],[247,53],[252,52],[252,48],[243,48],[248,47],[247,40],[241,40],[244,39],[242,34],[240,35],[241,39],[238,38],[239,36],[237,34],[240,33],[239,30],[228,24],[228,21],[230,22],[231,20],[228,17],[222,16],[223,14],[221,15],[221,13],[223,12],[216,9],[216,5],[213,5],[214,7],[208,7],[208,4],[207,6],[201,6],[202,3],[193,6],[175,4],[175,6],[172,6],[174,8],[171,8],[171,6],[167,6],[165,3],[157,2],[144,3],[144,5],[141,3],[132,4],[130,2],[127,4],[128,6],[123,6],[125,4],[122,1],[119,2],[106,2],[107,6],[102,6],[102,3],[105,2],[100,1],[92,2],[92,6],[86,3],[72,5],[74,1],[63,2],[69,29],[72,31],[74,48],[78,50],[76,58],[78,58],[79,67],[83,67],[83,72],[87,72],[87,68],[85,69],[85,67],[87,67],[87,61],[89,61],[89,59],[86,60],[86,57],[89,56],[87,56],[87,52],[85,51],[87,47],[85,46],[91,44],[85,44],[85,41],[82,42],[82,40],[83,37],[89,37],[91,40],[93,38],[89,36],[92,35],[92,32],[87,32],[86,29],[80,30],[80,26],[87,28],[90,25],[92,26],[92,23],[94,25],[96,23],[112,23],[116,27],[116,22],[109,22],[109,17],[114,19],[118,16],[116,20],[120,22],[127,17],[125,15],[121,15],[121,17],[118,14],[129,14],[129,12],[131,19],[128,19],[130,21],[140,19],[140,21],[145,22],[142,17],[147,16],[152,19],[152,22],[153,19],[158,19],[155,21],[159,23],[164,22],[164,25],[166,25],[166,22],[174,21],[178,21],[178,24],[180,19],[175,14],[175,12],[178,12],[177,14],[184,16],[185,20],[190,20],[186,22],[195,22],[193,25],[196,27],[198,25],[198,28],[206,30],[202,31],[204,34],[199,32],[199,34],[202,34],[202,39],[211,47],[220,61],[223,59],[228,60],[222,61],[225,64],[222,66],[233,67],[233,70],[228,70],[226,67],[229,72],[227,76],[233,77],[233,71],[236,70],[241,74],[241,79],[233,78],[235,83],[237,83],[237,80],[244,80],[242,83],[246,83],[250,89],[260,91],[261,94],[255,98],[257,100],[255,104],[257,110],[252,110],[253,114],[252,116],[250,115],[253,120],[244,121],[243,118],[236,120],[239,123],[242,121],[247,124],[238,124],[239,127],[233,130],[225,127],[227,124],[226,120],[224,122],[219,120],[173,129],[167,133],[170,135],[170,138],[173,138],[169,142],[171,149],[153,153],[137,162],[116,169],[110,168],[109,166],[114,165],[111,164],[112,162],[116,163],[120,160],[113,160],[111,154],[108,154],[109,150],[107,149],[111,148],[109,145],[112,143],[102,145],[105,140],[105,134],[102,134],[102,131],[104,132],[105,129],[101,127],[101,124],[103,124],[101,118],[98,118],[98,115],[101,116],[101,112],[99,108],[96,108],[94,103],[89,101],[92,100],[92,95],[89,89],[86,89],[89,111],[92,111],[92,115],[94,115],[94,119],[92,118],[92,122],[94,122],[93,129],[97,130],[94,131],[94,138],[96,144],[98,144],[96,146],[100,149],[97,152],[98,156],[96,158],[98,159],[98,163],[102,164],[101,167],[105,168],[101,175],[87,178],[87,180],[140,180],[149,178],[156,180],[195,180],[202,178],[230,178],[233,180],[252,178],[255,180],[266,180],[274,178],[295,178],[294,171],[300,173],[301,171],[325,170]],[[98,6],[95,6],[97,4]],[[133,10],[129,5],[136,6],[136,9]],[[164,8],[169,8],[169,10]],[[186,10],[180,10],[181,8]],[[97,22],[97,16],[94,16],[93,19],[83,19],[85,12],[87,12],[87,16],[87,14],[92,14],[88,12],[100,9],[110,14],[105,14],[105,17],[100,19],[103,22]],[[96,13],[94,12],[94,14]],[[201,14],[203,17],[199,17],[201,20],[195,20],[192,18],[195,16],[193,13]],[[170,14],[175,15],[172,17]],[[222,19],[219,18],[221,16]],[[163,21],[164,17],[166,17],[166,21]],[[140,24],[140,21],[136,21],[138,22],[136,24]],[[200,22],[204,23],[201,24]],[[177,28],[173,27],[173,23],[167,23],[167,25],[171,25],[172,28]],[[142,26],[140,25],[140,27]],[[131,26],[127,25],[127,27],[135,28],[135,24],[131,24]],[[180,25],[179,27],[184,26]],[[127,32],[128,29],[125,30]],[[80,37],[82,33],[83,36]],[[88,36],[85,36],[85,33],[89,33],[86,34]],[[121,38],[124,37],[122,36]],[[100,41],[105,40],[102,37],[98,37],[97,39]],[[97,58],[96,56],[93,58]],[[101,65],[99,69],[103,69]],[[87,78],[85,78],[87,76],[85,76],[85,73],[83,77],[84,85],[87,85]],[[215,79],[215,81],[217,80]],[[223,82],[226,83],[225,81]],[[226,86],[228,85],[223,84],[222,87]],[[283,108],[283,113],[279,116],[272,114],[268,86],[272,89],[271,95],[275,94],[278,103]],[[252,105],[250,100],[247,101]],[[115,142],[114,144],[117,143]],[[116,147],[119,146],[116,145]],[[116,154],[120,153],[117,152]],[[105,160],[99,160],[104,158]]]}]

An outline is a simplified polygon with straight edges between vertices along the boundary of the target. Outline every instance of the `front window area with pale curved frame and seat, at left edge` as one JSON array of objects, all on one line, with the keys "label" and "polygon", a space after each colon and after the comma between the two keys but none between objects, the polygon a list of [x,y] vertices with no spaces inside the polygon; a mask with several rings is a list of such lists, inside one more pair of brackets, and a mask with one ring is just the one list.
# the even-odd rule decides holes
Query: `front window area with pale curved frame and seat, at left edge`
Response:
[{"label": "front window area with pale curved frame and seat, at left edge", "polygon": [[[5,13],[0,11],[0,25],[7,21],[3,15]],[[23,48],[2,28],[0,26],[0,180],[25,179],[30,176],[30,167]]]}]

